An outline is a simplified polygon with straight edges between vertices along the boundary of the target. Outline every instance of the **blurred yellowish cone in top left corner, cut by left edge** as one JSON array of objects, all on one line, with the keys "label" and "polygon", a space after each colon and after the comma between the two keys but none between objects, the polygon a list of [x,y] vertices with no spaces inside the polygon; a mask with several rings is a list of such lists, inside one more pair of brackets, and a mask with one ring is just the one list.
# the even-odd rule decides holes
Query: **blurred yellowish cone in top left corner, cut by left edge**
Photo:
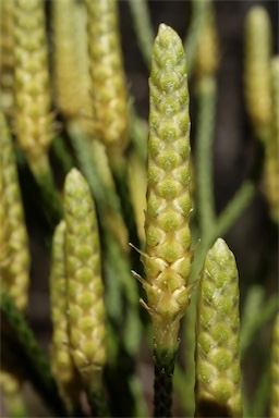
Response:
[{"label": "blurred yellowish cone in top left corner, cut by left edge", "polygon": [[1,106],[3,110],[7,110],[7,111],[11,110],[14,104],[13,12],[14,12],[14,0],[1,1],[0,3],[0,28],[1,28],[0,86],[1,86]]}]

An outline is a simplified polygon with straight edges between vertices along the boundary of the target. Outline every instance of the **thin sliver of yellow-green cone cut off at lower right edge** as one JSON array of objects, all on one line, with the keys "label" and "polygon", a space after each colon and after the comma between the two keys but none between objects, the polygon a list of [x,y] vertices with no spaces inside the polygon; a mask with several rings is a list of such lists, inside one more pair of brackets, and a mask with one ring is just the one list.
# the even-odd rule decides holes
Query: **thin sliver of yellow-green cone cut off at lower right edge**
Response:
[{"label": "thin sliver of yellow-green cone cut off at lower right edge", "polygon": [[279,417],[279,314],[277,314],[271,346],[270,418]]}]

